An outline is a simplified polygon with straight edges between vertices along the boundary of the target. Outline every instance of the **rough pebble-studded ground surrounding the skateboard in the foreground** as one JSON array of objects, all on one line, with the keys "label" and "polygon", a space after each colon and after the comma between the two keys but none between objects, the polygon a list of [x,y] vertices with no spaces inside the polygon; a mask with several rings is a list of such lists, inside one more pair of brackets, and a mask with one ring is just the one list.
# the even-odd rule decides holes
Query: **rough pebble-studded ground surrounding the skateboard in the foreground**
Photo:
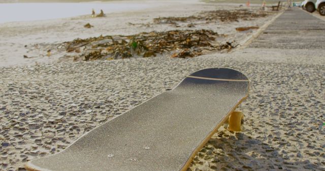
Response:
[{"label": "rough pebble-studded ground surrounding the skateboard in the foreground", "polygon": [[[222,127],[192,170],[323,170],[324,63],[216,55],[0,68],[2,168],[61,151],[95,126],[175,87],[191,72],[232,67],[251,81],[245,131]],[[322,78],[322,79],[319,79]],[[190,136],[190,135],[189,135]]]}]

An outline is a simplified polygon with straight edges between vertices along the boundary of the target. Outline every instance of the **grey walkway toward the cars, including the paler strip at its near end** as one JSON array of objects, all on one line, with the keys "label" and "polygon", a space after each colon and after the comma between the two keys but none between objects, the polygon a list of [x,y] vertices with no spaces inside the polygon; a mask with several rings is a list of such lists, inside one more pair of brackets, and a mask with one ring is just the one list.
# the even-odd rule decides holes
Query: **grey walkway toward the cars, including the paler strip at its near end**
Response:
[{"label": "grey walkway toward the cars, including the paler strip at its near end", "polygon": [[325,21],[299,9],[284,11],[246,48],[219,58],[266,63],[325,64]]}]

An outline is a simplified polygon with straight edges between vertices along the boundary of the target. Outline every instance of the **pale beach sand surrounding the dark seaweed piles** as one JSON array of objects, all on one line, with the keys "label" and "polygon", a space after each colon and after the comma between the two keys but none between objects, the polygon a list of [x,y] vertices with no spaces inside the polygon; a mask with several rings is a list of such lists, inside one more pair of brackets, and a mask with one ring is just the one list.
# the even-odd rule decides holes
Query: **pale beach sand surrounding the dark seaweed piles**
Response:
[{"label": "pale beach sand surrounding the dark seaweed piles", "polygon": [[[121,3],[127,3],[122,1]],[[132,2],[135,3],[134,1]],[[139,2],[143,3],[143,2]],[[57,62],[67,54],[62,49],[57,49],[63,41],[71,41],[75,38],[88,38],[100,35],[130,35],[143,31],[167,31],[175,29],[211,29],[219,34],[228,36],[220,39],[220,42],[234,41],[239,44],[251,36],[252,33],[241,33],[235,30],[236,27],[262,26],[273,16],[256,18],[254,20],[240,20],[239,22],[216,22],[206,24],[200,21],[193,28],[188,28],[187,24],[174,27],[170,24],[151,24],[149,27],[143,25],[153,23],[153,18],[157,17],[184,17],[196,15],[204,11],[219,9],[245,9],[238,5],[226,6],[218,4],[205,4],[197,1],[150,1],[152,8],[128,13],[108,13],[104,18],[91,18],[80,16],[74,18],[54,19],[33,22],[12,22],[0,24],[0,66],[10,65],[34,65],[37,63]],[[108,4],[109,3],[105,3]],[[258,10],[259,7],[252,9]],[[89,11],[90,13],[90,11]],[[90,23],[94,27],[84,28]],[[253,30],[255,31],[255,30]],[[25,47],[26,46],[26,47]],[[52,51],[52,56],[47,57],[47,51]],[[36,57],[36,58],[23,58]]]}]

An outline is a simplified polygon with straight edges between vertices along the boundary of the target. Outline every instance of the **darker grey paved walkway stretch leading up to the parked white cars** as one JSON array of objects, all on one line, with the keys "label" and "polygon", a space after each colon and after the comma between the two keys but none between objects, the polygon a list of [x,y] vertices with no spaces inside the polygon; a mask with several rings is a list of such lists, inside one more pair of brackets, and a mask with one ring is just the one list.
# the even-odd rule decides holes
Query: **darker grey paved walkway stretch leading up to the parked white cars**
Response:
[{"label": "darker grey paved walkway stretch leading up to the parked white cars", "polygon": [[325,49],[325,21],[298,8],[285,11],[249,48]]}]

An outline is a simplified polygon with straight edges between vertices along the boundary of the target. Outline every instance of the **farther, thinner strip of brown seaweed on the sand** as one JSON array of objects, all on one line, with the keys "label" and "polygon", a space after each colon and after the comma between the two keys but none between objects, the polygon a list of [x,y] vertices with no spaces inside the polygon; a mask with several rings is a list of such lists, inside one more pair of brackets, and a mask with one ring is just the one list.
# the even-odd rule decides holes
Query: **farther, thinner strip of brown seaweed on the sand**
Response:
[{"label": "farther, thinner strip of brown seaweed on the sand", "polygon": [[215,10],[202,12],[196,16],[187,17],[159,17],[154,18],[155,24],[177,24],[177,22],[191,22],[197,20],[205,20],[207,23],[221,21],[234,22],[241,20],[251,20],[258,17],[266,17],[270,12],[267,11],[251,11],[248,9],[240,10]]}]

